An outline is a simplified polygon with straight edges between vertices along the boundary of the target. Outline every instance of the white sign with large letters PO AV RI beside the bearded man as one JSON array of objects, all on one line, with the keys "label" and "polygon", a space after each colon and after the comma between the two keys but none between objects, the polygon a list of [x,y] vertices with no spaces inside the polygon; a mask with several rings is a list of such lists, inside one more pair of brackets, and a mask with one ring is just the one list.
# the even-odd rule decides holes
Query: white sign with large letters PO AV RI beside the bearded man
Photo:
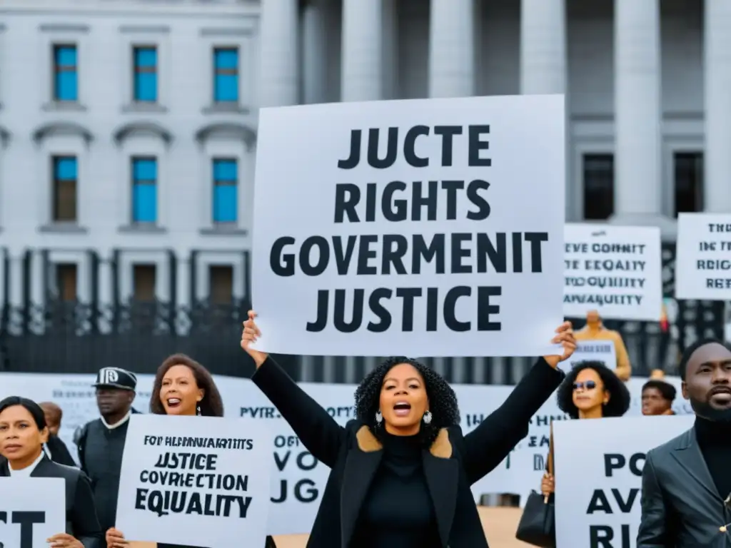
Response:
[{"label": "white sign with large letters PO AV RI beside the bearded man", "polygon": [[693,422],[693,416],[557,422],[556,546],[635,547],[645,454]]}]

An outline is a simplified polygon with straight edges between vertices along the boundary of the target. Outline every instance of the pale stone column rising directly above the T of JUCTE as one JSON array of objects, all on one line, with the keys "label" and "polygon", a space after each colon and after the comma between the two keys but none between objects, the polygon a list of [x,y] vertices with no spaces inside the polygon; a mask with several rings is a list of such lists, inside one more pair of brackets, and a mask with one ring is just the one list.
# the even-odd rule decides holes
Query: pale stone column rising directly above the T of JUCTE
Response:
[{"label": "pale stone column rising directly above the T of JUCTE", "polygon": [[431,0],[429,96],[474,95],[474,0]]}]

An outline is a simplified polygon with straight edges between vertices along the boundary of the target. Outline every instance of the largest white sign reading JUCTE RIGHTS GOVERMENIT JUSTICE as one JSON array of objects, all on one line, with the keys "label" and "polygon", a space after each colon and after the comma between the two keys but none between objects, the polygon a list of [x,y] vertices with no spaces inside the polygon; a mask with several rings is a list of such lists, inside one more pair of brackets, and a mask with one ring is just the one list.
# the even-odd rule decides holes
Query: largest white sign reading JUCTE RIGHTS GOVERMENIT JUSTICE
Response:
[{"label": "largest white sign reading JUCTE RIGHTS GOVERMENIT JUSTICE", "polygon": [[261,110],[257,349],[555,353],[564,168],[563,96]]}]

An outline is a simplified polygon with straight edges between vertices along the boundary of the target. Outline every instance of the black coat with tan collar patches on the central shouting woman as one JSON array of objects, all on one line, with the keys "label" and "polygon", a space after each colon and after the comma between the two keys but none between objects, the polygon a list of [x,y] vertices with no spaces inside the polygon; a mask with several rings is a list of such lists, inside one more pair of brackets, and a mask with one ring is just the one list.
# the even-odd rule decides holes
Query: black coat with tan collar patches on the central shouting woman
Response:
[{"label": "black coat with tan collar patches on the central shouting woman", "polygon": [[[531,417],[564,374],[539,359],[505,402],[467,435],[443,428],[423,451],[423,468],[442,547],[488,548],[470,486],[496,468],[528,435]],[[251,378],[279,409],[304,446],[331,469],[308,548],[348,548],[360,507],[381,463],[383,446],[370,427],[341,427],[268,358]]]}]

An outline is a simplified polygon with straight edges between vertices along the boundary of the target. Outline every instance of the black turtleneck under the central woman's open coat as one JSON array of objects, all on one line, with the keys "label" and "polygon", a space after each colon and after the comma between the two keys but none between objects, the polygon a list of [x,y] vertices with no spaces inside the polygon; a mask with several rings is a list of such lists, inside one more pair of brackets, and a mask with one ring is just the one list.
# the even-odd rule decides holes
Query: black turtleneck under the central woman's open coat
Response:
[{"label": "black turtleneck under the central woman's open coat", "polygon": [[418,436],[383,433],[384,454],[360,509],[351,548],[437,548]]}]

